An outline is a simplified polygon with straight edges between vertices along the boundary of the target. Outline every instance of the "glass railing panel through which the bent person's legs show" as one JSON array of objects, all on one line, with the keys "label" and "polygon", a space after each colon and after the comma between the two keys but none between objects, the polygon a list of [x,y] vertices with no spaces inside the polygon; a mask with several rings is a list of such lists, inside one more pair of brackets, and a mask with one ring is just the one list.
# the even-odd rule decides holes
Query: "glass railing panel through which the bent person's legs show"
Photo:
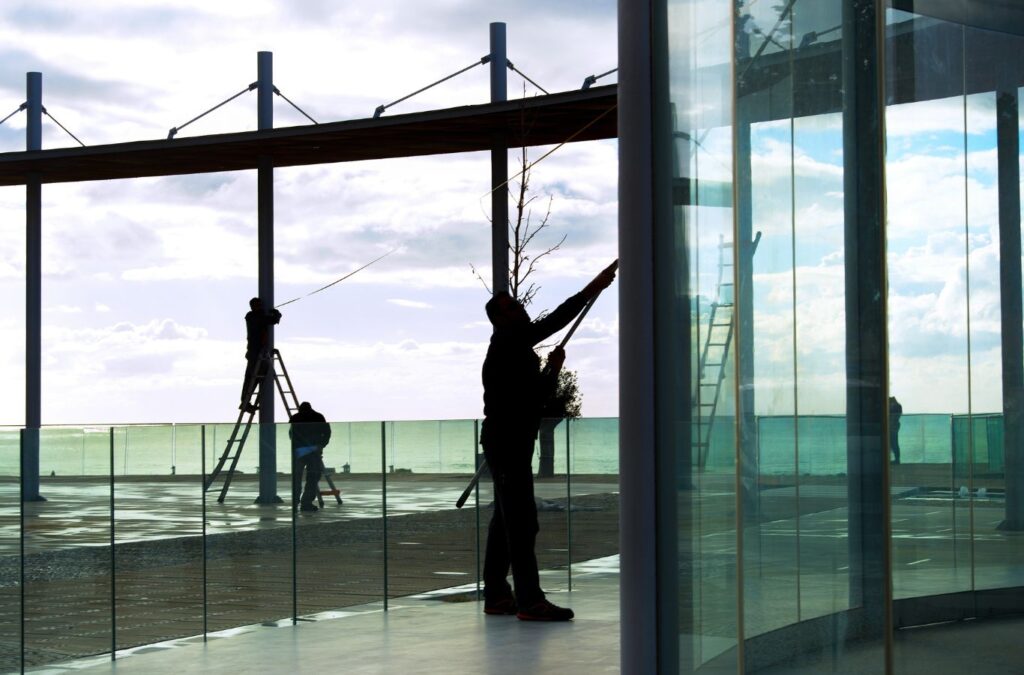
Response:
[{"label": "glass railing panel through which the bent person's legs show", "polygon": [[[324,504],[317,501],[316,512],[296,514],[300,616],[384,598],[381,451],[380,422],[331,423],[324,449],[327,477],[319,480]],[[332,482],[337,497],[328,492]]]}]

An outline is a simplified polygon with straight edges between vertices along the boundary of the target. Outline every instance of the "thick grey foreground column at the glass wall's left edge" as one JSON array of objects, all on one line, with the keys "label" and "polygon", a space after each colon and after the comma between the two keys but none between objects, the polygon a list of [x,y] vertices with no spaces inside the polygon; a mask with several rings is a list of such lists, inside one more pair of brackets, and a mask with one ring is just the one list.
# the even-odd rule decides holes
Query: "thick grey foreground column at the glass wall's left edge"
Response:
[{"label": "thick grey foreground column at the glass wall's left edge", "polygon": [[[652,97],[658,93],[664,98],[668,92],[667,87],[656,85],[653,70],[667,68],[668,59],[659,64],[652,51],[656,34],[666,29],[664,4],[618,0],[618,311],[623,326],[618,341],[618,550],[620,670],[624,673],[672,673],[678,667],[671,657],[664,667],[658,661],[662,640],[668,637],[673,644],[679,640],[671,611],[667,623],[659,621],[666,605],[675,606],[671,591],[658,592],[659,539],[668,535],[665,543],[671,544],[675,535],[663,529],[655,494],[659,488],[654,377],[657,270],[651,262],[656,230],[659,224],[665,226],[656,219],[655,197],[662,185],[655,180],[671,179],[671,167],[669,172],[659,171],[654,159],[658,139],[652,118],[657,103]],[[660,23],[652,26],[658,16]],[[668,204],[671,209],[671,199]],[[668,217],[671,222],[671,211]],[[668,335],[671,327],[667,328]],[[660,477],[672,481],[675,475]]]}]

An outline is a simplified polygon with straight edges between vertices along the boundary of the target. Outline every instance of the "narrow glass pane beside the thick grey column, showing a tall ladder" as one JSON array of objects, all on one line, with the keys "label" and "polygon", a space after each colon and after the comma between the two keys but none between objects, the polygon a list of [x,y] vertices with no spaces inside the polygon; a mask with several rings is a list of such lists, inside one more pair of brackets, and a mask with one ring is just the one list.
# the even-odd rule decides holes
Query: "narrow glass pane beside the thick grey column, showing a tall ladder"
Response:
[{"label": "narrow glass pane beside the thick grey column, showing a tall ladder", "polygon": [[659,536],[678,538],[683,673],[738,664],[731,4],[668,5],[675,222],[656,233],[668,267],[654,311],[671,383],[657,433],[674,444],[662,452],[676,453],[679,511],[677,531]]}]

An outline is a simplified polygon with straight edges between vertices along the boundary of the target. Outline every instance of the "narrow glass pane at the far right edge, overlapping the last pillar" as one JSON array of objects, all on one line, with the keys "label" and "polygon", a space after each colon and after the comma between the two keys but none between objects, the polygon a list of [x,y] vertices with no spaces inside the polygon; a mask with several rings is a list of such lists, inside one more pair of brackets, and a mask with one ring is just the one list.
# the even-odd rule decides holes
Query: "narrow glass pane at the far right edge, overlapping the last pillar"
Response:
[{"label": "narrow glass pane at the far right edge, overlapping the last pillar", "polygon": [[[1024,48],[1022,38],[993,36],[977,30],[970,30],[967,34],[967,53],[971,61],[989,64],[993,50],[1002,54],[1008,49],[1021,48]],[[1006,68],[1006,71],[1016,75],[1014,69]],[[969,88],[972,91],[992,88],[992,75],[987,66],[969,68]],[[995,83],[998,91],[973,93],[968,97],[966,111],[973,412],[968,489],[973,534],[973,583],[978,590],[1024,586],[1024,563],[1021,562],[1024,560],[1024,533],[1007,526],[1014,501],[1012,496],[1008,498],[1008,490],[1013,488],[1008,488],[1007,454],[1011,454],[1012,465],[1015,447],[1019,448],[1021,438],[1020,417],[1009,410],[1012,410],[1015,399],[1019,400],[1021,390],[1014,386],[1013,379],[1008,380],[1008,387],[1004,384],[1008,373],[1016,370],[1018,381],[1024,374],[1019,361],[1014,363],[1008,360],[1004,363],[1006,352],[1002,342],[1007,329],[1013,329],[1016,324],[1017,330],[1020,330],[1021,305],[1017,294],[1020,288],[1013,288],[1011,281],[1012,272],[1020,271],[1020,260],[1004,257],[1000,237],[1000,230],[1009,227],[1014,230],[1013,237],[1017,242],[1020,241],[1017,231],[1019,221],[1015,222],[1013,218],[1014,215],[1019,216],[1019,212],[1001,213],[1004,204],[1012,202],[1004,202],[1000,198],[1009,196],[999,194],[1004,188],[1000,176],[1010,183],[1019,184],[1020,179],[1020,82],[1019,76],[1011,79],[1006,77],[1007,73],[1002,75],[1000,81]],[[1019,188],[1016,197],[1020,198]],[[1006,281],[1004,275],[1007,276]],[[1015,304],[1016,311],[1013,309]],[[1008,305],[1010,310],[1004,315]],[[1008,345],[1013,344],[1013,330],[1010,333]],[[1016,426],[1015,418],[1018,420]],[[958,440],[959,436],[956,438]],[[956,450],[959,451],[959,448]],[[959,452],[955,458],[958,461]],[[1020,464],[1017,466],[1020,467]]]}]

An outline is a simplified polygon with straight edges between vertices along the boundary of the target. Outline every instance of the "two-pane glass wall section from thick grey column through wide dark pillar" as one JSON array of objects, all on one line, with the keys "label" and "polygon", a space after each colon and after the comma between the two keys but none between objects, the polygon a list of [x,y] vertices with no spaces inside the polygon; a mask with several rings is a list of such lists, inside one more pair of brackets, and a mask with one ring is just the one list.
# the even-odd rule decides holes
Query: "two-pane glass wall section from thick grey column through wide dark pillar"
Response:
[{"label": "two-pane glass wall section from thick grey column through wide dark pillar", "polygon": [[886,669],[883,147],[844,72],[879,23],[850,10],[668,2],[680,672]]}]

